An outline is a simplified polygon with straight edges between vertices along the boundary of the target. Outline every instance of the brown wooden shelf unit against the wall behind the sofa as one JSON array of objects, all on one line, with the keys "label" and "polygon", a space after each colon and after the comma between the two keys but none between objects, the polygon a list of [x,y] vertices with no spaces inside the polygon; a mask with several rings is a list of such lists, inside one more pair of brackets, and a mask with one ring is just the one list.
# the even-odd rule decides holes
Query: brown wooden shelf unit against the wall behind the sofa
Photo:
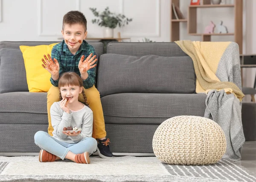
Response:
[{"label": "brown wooden shelf unit against the wall behind the sofa", "polygon": [[[234,42],[239,45],[239,52],[242,54],[243,50],[243,0],[234,0],[234,4],[211,4],[211,0],[201,0],[201,5],[190,5],[188,7],[187,19],[176,20],[174,12],[172,11],[172,3],[180,7],[180,0],[171,0],[171,42],[180,40],[180,22],[187,22],[187,29],[189,35],[201,36],[202,41],[211,41],[211,36],[233,35]],[[204,34],[197,33],[197,9],[198,8],[234,8],[234,33],[227,34]]]}]

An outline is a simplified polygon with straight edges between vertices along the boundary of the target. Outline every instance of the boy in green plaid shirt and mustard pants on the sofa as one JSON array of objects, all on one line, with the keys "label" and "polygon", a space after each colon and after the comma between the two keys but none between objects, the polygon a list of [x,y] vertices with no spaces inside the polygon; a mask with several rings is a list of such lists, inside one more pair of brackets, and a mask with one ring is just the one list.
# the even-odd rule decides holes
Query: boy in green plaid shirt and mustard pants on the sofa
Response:
[{"label": "boy in green plaid shirt and mustard pants on the sofa", "polygon": [[[63,17],[61,33],[64,40],[52,48],[52,57],[44,55],[42,66],[52,75],[52,87],[47,92],[48,133],[52,136],[50,107],[59,101],[58,79],[64,72],[74,71],[81,76],[84,83],[84,93],[93,111],[93,138],[97,139],[97,151],[102,158],[112,157],[109,139],[106,139],[105,121],[99,91],[95,88],[96,52],[84,39],[87,37],[87,20],[79,11],[69,11]],[[92,55],[94,55],[92,57]],[[87,57],[84,60],[84,57]],[[52,60],[53,58],[53,60]],[[72,97],[69,98],[70,100]],[[79,95],[79,101],[84,102]]]}]

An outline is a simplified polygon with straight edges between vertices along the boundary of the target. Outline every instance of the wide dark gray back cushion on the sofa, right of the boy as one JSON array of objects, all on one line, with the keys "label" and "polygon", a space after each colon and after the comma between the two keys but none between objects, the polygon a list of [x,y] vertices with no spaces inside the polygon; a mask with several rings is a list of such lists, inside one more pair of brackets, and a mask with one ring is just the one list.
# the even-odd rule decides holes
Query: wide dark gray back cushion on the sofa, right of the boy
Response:
[{"label": "wide dark gray back cushion on the sofa, right of the boy", "polygon": [[195,70],[188,56],[103,54],[97,88],[102,97],[117,93],[195,93]]}]

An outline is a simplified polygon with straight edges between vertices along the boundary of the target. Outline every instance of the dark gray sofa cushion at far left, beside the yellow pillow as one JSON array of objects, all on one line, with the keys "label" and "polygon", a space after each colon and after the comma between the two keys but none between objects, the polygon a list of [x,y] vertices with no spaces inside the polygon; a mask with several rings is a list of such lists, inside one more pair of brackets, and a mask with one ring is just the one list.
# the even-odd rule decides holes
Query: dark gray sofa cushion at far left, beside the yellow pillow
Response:
[{"label": "dark gray sofa cushion at far left, beside the yellow pillow", "polygon": [[29,91],[20,49],[0,49],[0,93]]}]

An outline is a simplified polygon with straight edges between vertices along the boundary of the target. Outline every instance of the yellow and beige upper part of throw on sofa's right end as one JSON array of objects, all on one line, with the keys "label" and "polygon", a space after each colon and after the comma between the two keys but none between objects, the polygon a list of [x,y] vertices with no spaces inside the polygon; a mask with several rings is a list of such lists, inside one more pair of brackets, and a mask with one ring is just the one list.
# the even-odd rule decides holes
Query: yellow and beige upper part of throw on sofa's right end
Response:
[{"label": "yellow and beige upper part of throw on sofa's right end", "polygon": [[[196,75],[196,93],[208,93],[212,89],[225,89],[227,94],[233,93],[240,101],[242,100],[244,94],[234,82],[226,81],[226,78],[221,80],[221,73],[216,75],[218,71],[223,69],[219,68],[219,63],[226,49],[233,42],[192,42],[190,40],[180,40],[175,43],[193,60]],[[233,64],[233,60],[230,61],[230,64]],[[232,73],[232,70],[226,71]]]}]

